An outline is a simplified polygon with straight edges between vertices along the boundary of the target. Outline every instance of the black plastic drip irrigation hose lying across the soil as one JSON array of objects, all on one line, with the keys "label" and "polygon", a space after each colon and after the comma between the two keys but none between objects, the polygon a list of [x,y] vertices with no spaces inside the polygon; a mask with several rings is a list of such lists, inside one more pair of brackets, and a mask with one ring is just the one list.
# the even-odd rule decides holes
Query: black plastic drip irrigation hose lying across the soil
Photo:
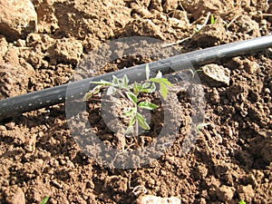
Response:
[{"label": "black plastic drip irrigation hose lying across the soil", "polygon": [[[189,64],[203,65],[215,62],[223,57],[234,57],[245,53],[252,53],[264,50],[272,46],[272,34],[257,37],[247,41],[231,44],[223,44],[209,47],[190,53],[182,53],[160,61],[149,63],[151,72],[163,74],[177,72],[188,68]],[[29,92],[23,95],[7,98],[0,101],[0,120],[18,115],[23,112],[31,112],[54,104],[62,103],[67,97],[83,98],[83,93],[91,89],[92,81],[111,81],[112,75],[122,76],[127,74],[130,82],[145,79],[146,64],[133,66],[129,69],[122,69],[113,73],[105,73],[99,76],[83,79],[81,81],[66,83],[37,92]]]}]

